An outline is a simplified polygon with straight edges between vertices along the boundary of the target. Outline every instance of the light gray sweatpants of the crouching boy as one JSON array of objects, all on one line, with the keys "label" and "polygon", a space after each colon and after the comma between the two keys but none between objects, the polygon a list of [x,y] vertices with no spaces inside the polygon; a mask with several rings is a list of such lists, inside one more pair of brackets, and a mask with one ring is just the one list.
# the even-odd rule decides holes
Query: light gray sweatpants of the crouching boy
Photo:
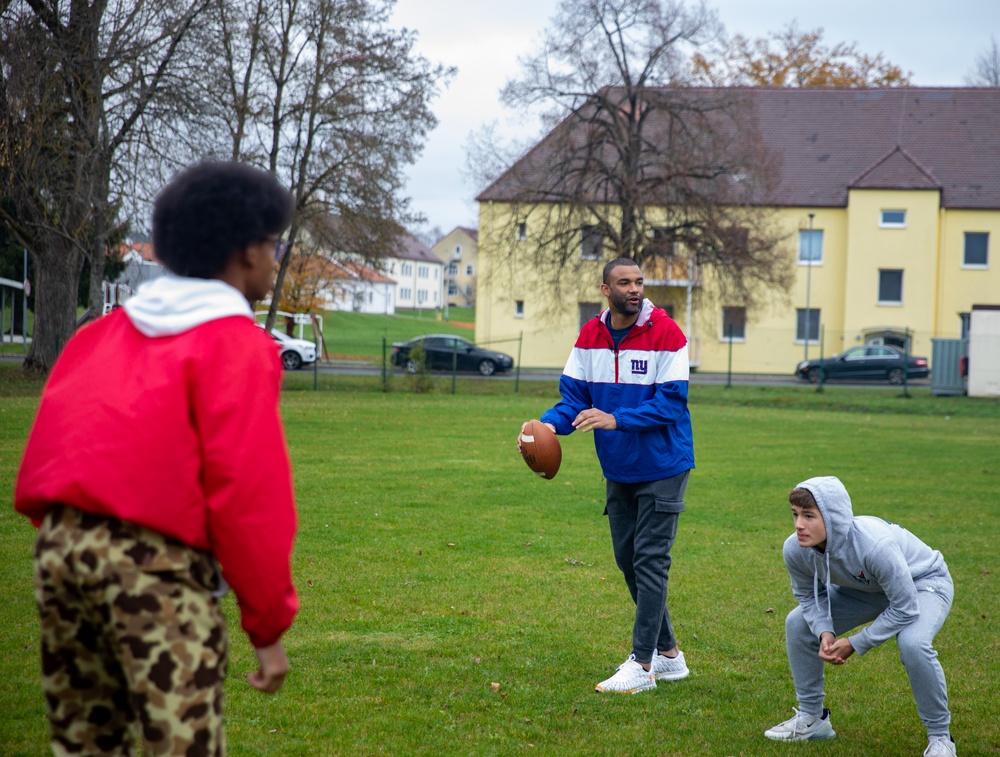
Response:
[{"label": "light gray sweatpants of the crouching boy", "polygon": [[[948,687],[933,644],[948,617],[954,596],[955,587],[947,577],[935,579],[933,585],[921,586],[917,592],[920,615],[896,635],[899,658],[910,679],[917,713],[924,721],[928,736],[947,736],[951,722]],[[889,600],[884,594],[845,586],[830,587],[830,609],[837,636],[874,620],[888,606]],[[826,663],[819,657],[819,639],[809,630],[801,607],[788,613],[785,620],[785,645],[799,709],[818,717],[823,713],[823,666]]]}]

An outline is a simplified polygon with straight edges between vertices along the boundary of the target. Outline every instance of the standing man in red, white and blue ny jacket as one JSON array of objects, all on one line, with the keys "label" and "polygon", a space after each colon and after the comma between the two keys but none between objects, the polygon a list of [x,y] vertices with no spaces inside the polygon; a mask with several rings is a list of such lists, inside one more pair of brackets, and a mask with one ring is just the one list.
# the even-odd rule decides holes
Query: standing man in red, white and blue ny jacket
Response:
[{"label": "standing man in red, white and blue ny jacket", "polygon": [[689,672],[667,611],[670,548],[694,467],[688,350],[673,319],[643,299],[634,261],[608,263],[601,294],[608,309],[580,330],[562,399],[541,420],[557,434],[594,432],[615,561],[635,602],[632,653],[596,689],[633,694]]}]

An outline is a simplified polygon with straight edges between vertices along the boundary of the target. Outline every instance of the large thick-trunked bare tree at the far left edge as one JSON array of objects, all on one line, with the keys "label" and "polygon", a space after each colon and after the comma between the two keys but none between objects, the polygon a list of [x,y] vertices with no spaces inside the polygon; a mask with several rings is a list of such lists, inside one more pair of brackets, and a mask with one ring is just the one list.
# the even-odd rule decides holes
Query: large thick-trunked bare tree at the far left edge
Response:
[{"label": "large thick-trunked bare tree at the far left edge", "polygon": [[13,0],[0,16],[0,222],[29,252],[35,330],[25,360],[47,371],[76,327],[89,261],[100,314],[108,239],[120,225],[117,155],[157,96],[208,0]]}]

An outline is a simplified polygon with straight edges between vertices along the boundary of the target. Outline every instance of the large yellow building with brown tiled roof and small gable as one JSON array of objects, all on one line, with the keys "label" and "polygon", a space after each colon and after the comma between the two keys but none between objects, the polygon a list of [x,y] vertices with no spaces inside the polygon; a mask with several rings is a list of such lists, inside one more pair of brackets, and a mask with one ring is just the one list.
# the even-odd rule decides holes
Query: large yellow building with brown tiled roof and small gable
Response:
[{"label": "large yellow building with brown tiled roof and small gable", "polygon": [[[803,358],[859,344],[932,357],[965,336],[974,303],[1000,303],[1000,89],[746,89],[775,156],[766,203],[794,273],[753,312],[711,296],[708,272],[646,270],[702,371],[791,374]],[[546,140],[529,154],[544,162]],[[537,170],[537,169],[535,169]],[[522,175],[524,172],[522,172]],[[479,201],[476,340],[523,334],[524,366],[559,367],[581,321],[604,307],[603,258],[580,259],[556,296],[537,274],[535,206],[512,217],[505,177]],[[551,208],[549,209],[549,212]],[[516,237],[515,256],[500,255]],[[963,327],[963,324],[966,326]]]}]

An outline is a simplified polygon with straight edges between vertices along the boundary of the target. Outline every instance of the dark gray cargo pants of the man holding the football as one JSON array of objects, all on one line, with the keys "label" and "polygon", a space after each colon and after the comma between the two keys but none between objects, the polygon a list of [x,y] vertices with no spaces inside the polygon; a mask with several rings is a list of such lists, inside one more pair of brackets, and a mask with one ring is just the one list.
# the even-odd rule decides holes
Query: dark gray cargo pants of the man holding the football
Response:
[{"label": "dark gray cargo pants of the man holding the football", "polygon": [[638,662],[652,660],[654,650],[677,646],[667,611],[667,574],[688,473],[638,484],[607,482],[604,512],[615,562],[635,602],[632,654]]}]

